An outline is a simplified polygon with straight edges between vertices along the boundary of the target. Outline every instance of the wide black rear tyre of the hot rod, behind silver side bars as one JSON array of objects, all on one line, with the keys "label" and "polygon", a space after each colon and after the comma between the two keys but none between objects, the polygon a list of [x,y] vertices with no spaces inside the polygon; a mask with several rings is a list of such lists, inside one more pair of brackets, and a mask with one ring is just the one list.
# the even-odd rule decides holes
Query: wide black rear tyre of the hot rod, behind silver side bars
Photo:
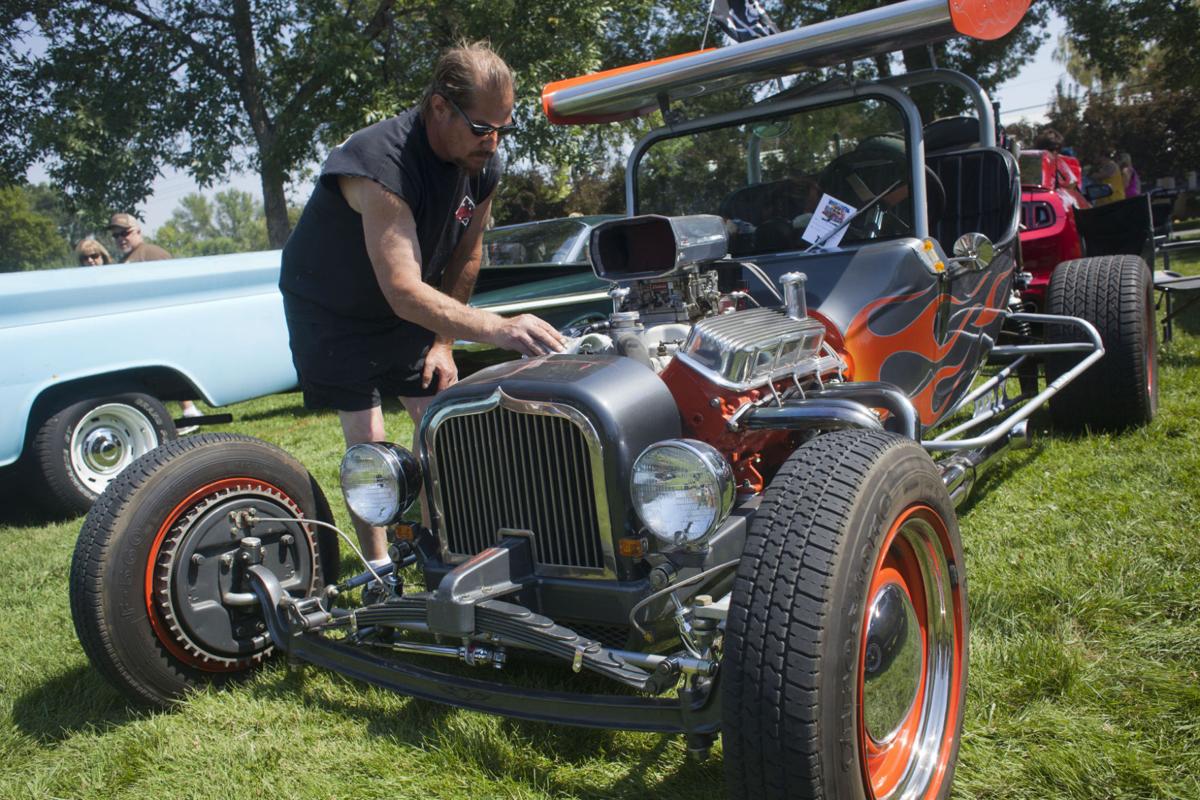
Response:
[{"label": "wide black rear tyre of the hot rod, behind silver side bars", "polygon": [[[1063,261],[1046,290],[1046,309],[1086,319],[1104,342],[1104,357],[1050,398],[1050,419],[1064,431],[1117,431],[1146,425],[1158,411],[1158,339],[1153,282],[1136,255]],[[1048,342],[1078,342],[1080,332],[1048,325]],[[1079,363],[1079,354],[1046,357],[1055,380]]]}]

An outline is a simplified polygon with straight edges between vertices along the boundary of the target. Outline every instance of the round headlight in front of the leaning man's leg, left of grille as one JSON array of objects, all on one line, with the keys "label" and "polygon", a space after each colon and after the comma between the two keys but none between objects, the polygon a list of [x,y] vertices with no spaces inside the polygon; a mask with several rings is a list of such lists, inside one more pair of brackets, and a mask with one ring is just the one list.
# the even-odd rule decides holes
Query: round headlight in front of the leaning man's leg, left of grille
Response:
[{"label": "round headlight in front of the leaning man's leg, left of grille", "polygon": [[397,522],[421,491],[416,456],[386,441],[354,445],[342,456],[342,494],[368,525]]}]

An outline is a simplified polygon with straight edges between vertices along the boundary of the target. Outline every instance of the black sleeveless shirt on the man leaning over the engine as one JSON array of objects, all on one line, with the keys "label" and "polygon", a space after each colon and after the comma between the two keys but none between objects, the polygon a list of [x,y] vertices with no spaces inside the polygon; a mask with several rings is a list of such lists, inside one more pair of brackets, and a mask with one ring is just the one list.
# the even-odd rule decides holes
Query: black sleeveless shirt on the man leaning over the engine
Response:
[{"label": "black sleeveless shirt on the man leaning over the engine", "polygon": [[499,154],[478,175],[438,158],[420,109],[377,122],[334,148],[300,222],[283,246],[280,289],[314,311],[362,321],[395,320],[362,234],[362,216],[337,187],[338,175],[368,178],[408,204],[416,221],[421,279],[438,285],[450,255],[496,188]]}]

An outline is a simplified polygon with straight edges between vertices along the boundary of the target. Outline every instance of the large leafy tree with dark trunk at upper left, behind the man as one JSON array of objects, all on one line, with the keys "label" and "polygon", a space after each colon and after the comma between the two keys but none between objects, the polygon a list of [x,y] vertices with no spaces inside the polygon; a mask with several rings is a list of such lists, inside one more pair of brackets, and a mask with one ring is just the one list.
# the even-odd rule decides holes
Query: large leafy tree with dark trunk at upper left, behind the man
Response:
[{"label": "large leafy tree with dark trunk at upper left, behind the man", "polygon": [[[395,0],[22,0],[0,71],[23,98],[25,163],[84,206],[132,209],[163,164],[208,185],[230,169],[262,178],[270,239],[287,237],[284,185],[322,131],[380,104]],[[43,47],[38,48],[37,46]]]}]

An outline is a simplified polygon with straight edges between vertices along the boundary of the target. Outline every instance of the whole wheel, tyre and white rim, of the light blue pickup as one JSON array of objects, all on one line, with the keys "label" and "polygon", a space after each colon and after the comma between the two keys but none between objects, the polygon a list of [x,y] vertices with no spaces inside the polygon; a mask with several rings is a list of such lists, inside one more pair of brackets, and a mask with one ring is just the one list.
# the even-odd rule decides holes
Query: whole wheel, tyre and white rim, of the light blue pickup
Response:
[{"label": "whole wheel, tyre and white rim, of the light blue pickup", "polygon": [[34,483],[48,507],[86,513],[122,469],[174,438],[167,408],[150,395],[78,401],[37,429]]}]

